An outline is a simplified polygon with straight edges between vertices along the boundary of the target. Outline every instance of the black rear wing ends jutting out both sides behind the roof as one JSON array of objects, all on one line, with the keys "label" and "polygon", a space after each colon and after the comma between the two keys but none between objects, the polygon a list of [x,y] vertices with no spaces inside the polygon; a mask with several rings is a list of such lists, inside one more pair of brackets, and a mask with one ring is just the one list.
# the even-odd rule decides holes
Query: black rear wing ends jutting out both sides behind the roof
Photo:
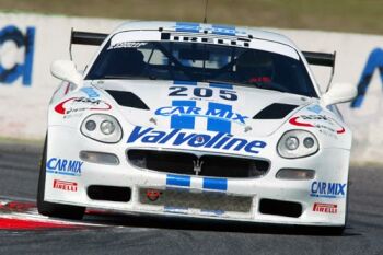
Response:
[{"label": "black rear wing ends jutting out both sides behind the roof", "polygon": [[[70,47],[72,44],[100,46],[108,34],[71,31]],[[302,51],[310,65],[332,67],[335,66],[336,54],[323,54],[313,51]]]}]

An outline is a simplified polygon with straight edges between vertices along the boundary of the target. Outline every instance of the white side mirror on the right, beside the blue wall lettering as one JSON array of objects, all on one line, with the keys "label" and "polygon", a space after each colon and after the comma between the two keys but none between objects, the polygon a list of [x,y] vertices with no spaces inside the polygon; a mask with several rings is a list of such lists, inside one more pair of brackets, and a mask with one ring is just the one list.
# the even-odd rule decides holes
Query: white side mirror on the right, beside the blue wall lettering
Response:
[{"label": "white side mirror on the right, beside the blue wall lettering", "polygon": [[357,88],[350,83],[335,83],[322,95],[323,106],[346,103],[353,100],[358,94]]}]

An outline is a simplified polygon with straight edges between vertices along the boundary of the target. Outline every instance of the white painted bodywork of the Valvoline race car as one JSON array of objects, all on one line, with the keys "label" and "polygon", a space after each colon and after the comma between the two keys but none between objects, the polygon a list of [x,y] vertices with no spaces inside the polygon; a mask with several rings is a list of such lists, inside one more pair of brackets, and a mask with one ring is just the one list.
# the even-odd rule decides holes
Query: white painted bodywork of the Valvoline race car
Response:
[{"label": "white painted bodywork of the Valvoline race car", "polygon": [[[176,23],[126,23],[111,36],[119,32],[132,32],[120,33],[119,36],[113,37],[112,44],[161,40],[159,27],[176,33],[175,26]],[[201,30],[210,30],[208,33],[213,34],[211,25],[200,24],[199,26]],[[235,32],[241,35],[253,35],[249,48],[274,51],[295,59],[302,58],[307,66],[300,50],[281,35],[244,27],[236,27]],[[185,34],[185,32],[178,33]],[[217,34],[217,38],[221,37],[222,35]],[[310,70],[309,73],[320,95]],[[201,112],[208,108],[209,102],[230,105],[232,113],[244,117],[243,121],[241,117],[229,120],[232,135],[230,139],[243,139],[246,146],[235,150],[235,147],[224,149],[223,146],[214,149],[213,146],[207,146],[206,140],[202,140],[204,146],[198,144],[196,141],[198,136],[210,141],[217,136],[217,132],[207,130],[208,117],[206,116],[195,116],[193,129],[181,129],[172,135],[174,129],[171,129],[172,116],[169,111],[172,108],[173,98],[169,95],[169,88],[174,85],[186,88],[187,95],[183,97],[184,100],[194,100],[193,88],[211,89],[213,94],[210,101],[196,100],[196,105],[201,108]],[[351,131],[343,123],[341,117],[316,97],[233,85],[230,91],[237,95],[237,100],[227,101],[219,96],[221,89],[204,82],[188,85],[176,81],[155,80],[84,80],[81,88],[63,82],[49,105],[45,200],[126,212],[167,216],[176,213],[184,217],[283,224],[344,225]],[[149,106],[150,111],[120,106],[104,90],[132,92]],[[96,107],[89,102],[73,103],[73,98],[80,97],[97,100],[98,103]],[[298,107],[281,119],[253,119],[254,115],[272,103],[293,104]],[[117,143],[104,143],[85,137],[80,131],[81,125],[92,114],[114,116],[123,130],[121,140]],[[294,129],[313,134],[318,141],[318,151],[297,159],[280,157],[277,151],[278,141],[286,131]],[[165,136],[167,139],[163,139]],[[189,139],[186,139],[187,137]],[[185,141],[179,141],[181,138],[185,138]],[[252,178],[207,178],[200,175],[179,175],[177,178],[174,173],[134,166],[127,159],[127,151],[130,149],[259,159],[269,162],[269,170],[264,176]],[[81,151],[113,153],[117,155],[119,164],[107,165],[84,161],[80,159]],[[276,175],[281,169],[313,170],[315,176],[313,179],[277,178]],[[61,185],[57,182],[61,182]],[[128,202],[91,199],[86,193],[91,185],[129,187],[131,199]],[[139,190],[142,188],[183,189],[193,194],[217,193],[223,196],[249,197],[252,202],[248,211],[210,210],[193,207],[193,204],[182,208],[172,205],[158,206],[140,201]],[[262,213],[259,210],[262,199],[300,204],[302,213],[299,217]]]}]

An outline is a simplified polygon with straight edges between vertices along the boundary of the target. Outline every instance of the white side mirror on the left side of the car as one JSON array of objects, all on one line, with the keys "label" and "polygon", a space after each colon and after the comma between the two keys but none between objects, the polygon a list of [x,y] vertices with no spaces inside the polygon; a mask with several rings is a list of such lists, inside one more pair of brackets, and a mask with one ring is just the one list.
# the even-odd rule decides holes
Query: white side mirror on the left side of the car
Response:
[{"label": "white side mirror on the left side of the car", "polygon": [[74,62],[70,60],[56,60],[50,65],[50,73],[62,81],[68,81],[81,88],[83,79],[81,73],[76,70]]}]

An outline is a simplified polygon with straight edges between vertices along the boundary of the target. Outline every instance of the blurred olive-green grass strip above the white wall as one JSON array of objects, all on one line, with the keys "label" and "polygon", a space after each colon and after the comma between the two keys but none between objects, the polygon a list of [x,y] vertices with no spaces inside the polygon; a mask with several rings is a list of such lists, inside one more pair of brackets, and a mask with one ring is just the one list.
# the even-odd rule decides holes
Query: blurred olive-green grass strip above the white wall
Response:
[{"label": "blurred olive-green grass strip above the white wall", "polygon": [[[1,0],[3,12],[201,22],[205,0]],[[210,0],[208,22],[383,34],[382,0]]]}]

